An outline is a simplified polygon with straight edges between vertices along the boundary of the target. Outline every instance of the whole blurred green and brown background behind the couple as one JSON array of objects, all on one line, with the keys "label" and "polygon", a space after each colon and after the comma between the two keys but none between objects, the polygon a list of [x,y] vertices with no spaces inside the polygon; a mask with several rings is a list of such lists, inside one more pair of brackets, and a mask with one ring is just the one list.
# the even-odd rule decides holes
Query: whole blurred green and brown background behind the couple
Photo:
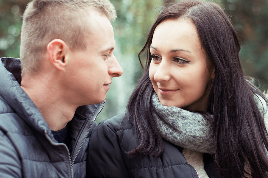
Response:
[{"label": "whole blurred green and brown background behind the couple", "polygon": [[[172,0],[110,0],[117,20],[112,23],[116,41],[114,54],[124,74],[113,78],[106,104],[97,122],[124,112],[127,100],[143,71],[138,60],[149,28],[161,6]],[[21,16],[28,0],[0,0],[0,57],[18,57]],[[228,14],[242,40],[240,51],[245,74],[259,79],[268,89],[268,1],[214,0]]]}]

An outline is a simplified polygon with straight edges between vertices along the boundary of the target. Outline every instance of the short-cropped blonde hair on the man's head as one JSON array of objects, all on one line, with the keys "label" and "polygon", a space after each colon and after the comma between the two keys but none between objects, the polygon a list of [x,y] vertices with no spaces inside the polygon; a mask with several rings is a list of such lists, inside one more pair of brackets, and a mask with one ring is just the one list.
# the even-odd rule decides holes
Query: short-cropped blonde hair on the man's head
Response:
[{"label": "short-cropped blonde hair on the man's head", "polygon": [[91,28],[88,15],[97,11],[110,21],[116,12],[108,0],[33,0],[27,5],[21,27],[22,74],[42,66],[47,44],[63,40],[72,50],[85,50],[85,37]]}]

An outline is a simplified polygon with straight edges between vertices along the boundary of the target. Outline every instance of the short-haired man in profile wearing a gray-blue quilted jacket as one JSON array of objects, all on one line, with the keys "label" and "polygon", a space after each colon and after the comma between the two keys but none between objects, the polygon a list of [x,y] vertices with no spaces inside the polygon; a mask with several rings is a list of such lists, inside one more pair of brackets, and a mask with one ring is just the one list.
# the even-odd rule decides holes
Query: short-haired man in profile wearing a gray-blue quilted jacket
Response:
[{"label": "short-haired man in profile wearing a gray-blue quilted jacket", "polygon": [[91,129],[123,73],[115,18],[108,0],[28,4],[21,60],[0,62],[0,177],[85,177]]}]

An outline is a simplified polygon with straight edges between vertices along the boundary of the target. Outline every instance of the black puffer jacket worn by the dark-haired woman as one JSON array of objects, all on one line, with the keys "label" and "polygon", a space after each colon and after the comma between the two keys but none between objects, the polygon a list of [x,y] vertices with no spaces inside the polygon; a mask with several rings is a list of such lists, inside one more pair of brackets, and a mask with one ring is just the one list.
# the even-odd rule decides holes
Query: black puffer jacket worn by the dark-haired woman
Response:
[{"label": "black puffer jacket worn by the dark-haired woman", "polygon": [[[137,146],[133,127],[120,122],[124,113],[102,121],[91,134],[87,160],[87,177],[161,177],[197,178],[195,169],[184,158],[181,147],[164,140],[160,157],[138,155],[128,157],[125,152]],[[119,127],[120,125],[120,127]],[[209,177],[218,177],[213,169],[213,159],[204,156]]]}]

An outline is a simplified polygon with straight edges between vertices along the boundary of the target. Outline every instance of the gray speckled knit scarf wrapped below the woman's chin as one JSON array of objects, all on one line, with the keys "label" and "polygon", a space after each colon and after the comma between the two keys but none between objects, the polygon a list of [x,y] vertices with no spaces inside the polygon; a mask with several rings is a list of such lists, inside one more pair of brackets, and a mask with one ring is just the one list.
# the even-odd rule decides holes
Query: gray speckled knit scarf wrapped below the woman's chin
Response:
[{"label": "gray speckled knit scarf wrapped below the woman's chin", "polygon": [[214,153],[213,132],[204,116],[181,108],[163,106],[154,93],[153,116],[162,138],[183,148]]}]

